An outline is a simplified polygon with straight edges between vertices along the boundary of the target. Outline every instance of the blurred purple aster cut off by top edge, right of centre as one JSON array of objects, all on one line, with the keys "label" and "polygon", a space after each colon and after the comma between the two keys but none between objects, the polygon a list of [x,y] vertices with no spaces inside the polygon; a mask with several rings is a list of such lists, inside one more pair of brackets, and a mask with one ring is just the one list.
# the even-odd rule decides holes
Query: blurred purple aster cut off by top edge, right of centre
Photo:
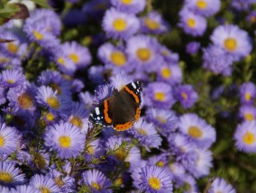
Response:
[{"label": "blurred purple aster cut off by top edge, right of centre", "polygon": [[189,10],[209,17],[217,13],[221,7],[220,0],[186,0],[185,5]]}]

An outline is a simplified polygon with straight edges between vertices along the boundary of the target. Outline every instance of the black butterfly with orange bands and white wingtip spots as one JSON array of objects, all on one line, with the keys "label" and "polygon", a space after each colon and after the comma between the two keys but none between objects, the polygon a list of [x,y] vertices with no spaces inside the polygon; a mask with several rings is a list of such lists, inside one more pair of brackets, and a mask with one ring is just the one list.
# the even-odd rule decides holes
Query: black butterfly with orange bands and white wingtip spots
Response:
[{"label": "black butterfly with orange bands and white wingtip spots", "polygon": [[140,81],[126,84],[119,92],[115,89],[113,96],[90,113],[89,119],[105,127],[114,127],[117,131],[129,129],[141,115],[141,92]]}]

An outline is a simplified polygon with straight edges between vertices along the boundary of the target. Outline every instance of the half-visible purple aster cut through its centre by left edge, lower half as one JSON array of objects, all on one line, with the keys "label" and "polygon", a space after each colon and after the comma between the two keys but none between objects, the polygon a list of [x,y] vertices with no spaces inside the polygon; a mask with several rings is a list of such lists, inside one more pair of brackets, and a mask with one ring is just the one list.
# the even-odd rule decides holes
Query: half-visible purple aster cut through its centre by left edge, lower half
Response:
[{"label": "half-visible purple aster cut through its centre by left edge, lower half", "polygon": [[18,132],[14,127],[0,123],[0,154],[13,154],[17,149]]}]

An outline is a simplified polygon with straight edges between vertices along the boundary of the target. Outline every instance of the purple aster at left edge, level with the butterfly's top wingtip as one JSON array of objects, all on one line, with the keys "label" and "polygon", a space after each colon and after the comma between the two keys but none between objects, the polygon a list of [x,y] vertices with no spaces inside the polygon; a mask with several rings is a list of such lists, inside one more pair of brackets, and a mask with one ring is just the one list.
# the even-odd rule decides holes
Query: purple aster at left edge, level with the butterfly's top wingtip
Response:
[{"label": "purple aster at left edge, level with the butterfly's top wingtip", "polygon": [[25,76],[18,70],[4,70],[0,74],[0,84],[5,88],[23,85]]}]

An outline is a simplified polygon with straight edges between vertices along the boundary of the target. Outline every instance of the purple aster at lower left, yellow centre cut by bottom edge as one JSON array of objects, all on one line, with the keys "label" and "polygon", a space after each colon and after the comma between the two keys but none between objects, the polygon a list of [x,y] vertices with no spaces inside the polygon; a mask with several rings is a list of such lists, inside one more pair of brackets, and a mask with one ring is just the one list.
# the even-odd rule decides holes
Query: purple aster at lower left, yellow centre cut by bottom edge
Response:
[{"label": "purple aster at lower left, yellow centre cut by bottom edge", "polygon": [[60,192],[59,187],[54,182],[50,175],[35,174],[30,180],[30,185],[41,192]]}]

